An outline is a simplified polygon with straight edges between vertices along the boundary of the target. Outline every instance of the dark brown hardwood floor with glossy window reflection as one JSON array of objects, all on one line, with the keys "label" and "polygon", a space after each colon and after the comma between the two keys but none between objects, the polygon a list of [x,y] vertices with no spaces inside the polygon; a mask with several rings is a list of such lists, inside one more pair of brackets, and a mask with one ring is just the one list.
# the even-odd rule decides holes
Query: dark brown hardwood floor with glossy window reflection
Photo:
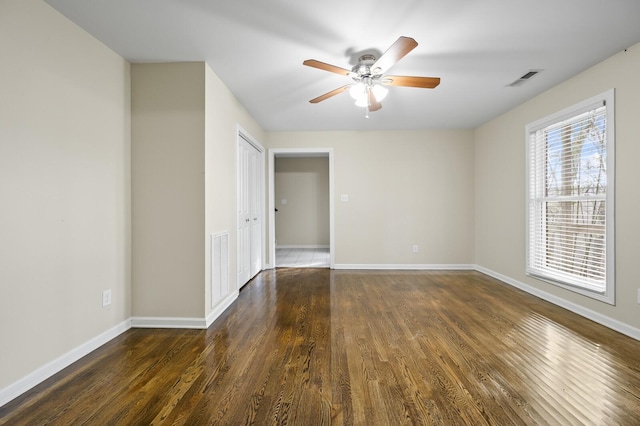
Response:
[{"label": "dark brown hardwood floor with glossy window reflection", "polygon": [[208,330],[132,329],[11,425],[638,425],[640,342],[477,272],[278,269]]}]

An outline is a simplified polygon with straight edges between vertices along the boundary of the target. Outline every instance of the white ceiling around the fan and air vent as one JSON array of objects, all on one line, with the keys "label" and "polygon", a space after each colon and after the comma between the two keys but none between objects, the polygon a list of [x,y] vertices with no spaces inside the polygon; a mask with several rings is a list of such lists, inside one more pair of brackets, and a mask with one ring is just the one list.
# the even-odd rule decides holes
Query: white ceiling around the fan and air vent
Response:
[{"label": "white ceiling around the fan and air vent", "polygon": [[[47,2],[131,62],[206,61],[268,131],[474,128],[640,42],[638,0]],[[302,61],[350,69],[399,36],[419,45],[389,73],[440,86],[391,87],[369,119],[348,93],[308,102],[350,79]]]}]

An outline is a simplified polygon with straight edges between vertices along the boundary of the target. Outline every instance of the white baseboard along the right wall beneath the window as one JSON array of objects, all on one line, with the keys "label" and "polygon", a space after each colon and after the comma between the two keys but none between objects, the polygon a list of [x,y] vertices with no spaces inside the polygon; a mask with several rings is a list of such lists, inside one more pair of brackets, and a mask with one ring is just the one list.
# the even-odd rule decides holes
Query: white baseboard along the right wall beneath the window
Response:
[{"label": "white baseboard along the right wall beneath the window", "polygon": [[633,339],[640,340],[640,329],[635,328],[629,324],[623,323],[601,313],[592,311],[591,309],[587,309],[584,306],[578,305],[576,303],[569,302],[566,299],[555,296],[551,293],[547,293],[546,291],[542,291],[533,286],[507,277],[490,269],[484,268],[482,266],[476,265],[475,269],[478,272],[482,272],[483,274],[489,275],[490,277],[500,280],[506,284],[519,288],[522,291],[539,297],[540,299],[546,300],[547,302],[553,303],[554,305],[560,306],[561,308],[567,309],[573,313],[590,319],[591,321],[597,322],[598,324],[604,325],[605,327],[608,327]]}]

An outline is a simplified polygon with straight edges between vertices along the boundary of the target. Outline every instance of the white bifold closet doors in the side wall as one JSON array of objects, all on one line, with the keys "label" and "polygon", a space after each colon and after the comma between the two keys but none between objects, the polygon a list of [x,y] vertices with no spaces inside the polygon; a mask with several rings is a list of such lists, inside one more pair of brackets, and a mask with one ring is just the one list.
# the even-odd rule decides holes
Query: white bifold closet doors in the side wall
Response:
[{"label": "white bifold closet doors in the side wall", "polygon": [[238,286],[262,269],[260,152],[243,138],[238,142]]}]

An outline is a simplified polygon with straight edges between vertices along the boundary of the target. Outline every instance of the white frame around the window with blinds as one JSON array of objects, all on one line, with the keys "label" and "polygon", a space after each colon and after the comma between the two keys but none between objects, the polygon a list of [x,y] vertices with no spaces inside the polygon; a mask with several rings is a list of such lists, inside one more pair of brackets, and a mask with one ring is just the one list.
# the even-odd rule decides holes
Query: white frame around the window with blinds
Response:
[{"label": "white frame around the window with blinds", "polygon": [[[605,197],[605,290],[600,291],[593,288],[589,288],[587,282],[576,283],[575,276],[573,279],[565,279],[562,274],[554,274],[553,271],[545,268],[538,268],[532,262],[533,251],[537,246],[535,241],[532,241],[532,215],[535,214],[532,205],[534,204],[534,198],[538,195],[532,194],[532,187],[534,184],[544,184],[540,182],[540,179],[544,181],[546,170],[538,172],[534,176],[535,172],[532,171],[532,161],[535,161],[532,155],[532,135],[539,130],[545,129],[553,124],[560,123],[564,120],[578,116],[584,112],[593,110],[602,105],[606,106],[606,197]],[[562,111],[558,111],[555,114],[551,114],[540,120],[527,124],[525,128],[526,132],[526,274],[536,279],[540,279],[567,290],[591,297],[593,299],[600,300],[611,305],[615,305],[615,91],[614,89],[608,90],[597,96],[589,98],[583,102],[580,102],[571,107],[565,108]],[[545,229],[545,220],[539,221],[542,228]]]}]

